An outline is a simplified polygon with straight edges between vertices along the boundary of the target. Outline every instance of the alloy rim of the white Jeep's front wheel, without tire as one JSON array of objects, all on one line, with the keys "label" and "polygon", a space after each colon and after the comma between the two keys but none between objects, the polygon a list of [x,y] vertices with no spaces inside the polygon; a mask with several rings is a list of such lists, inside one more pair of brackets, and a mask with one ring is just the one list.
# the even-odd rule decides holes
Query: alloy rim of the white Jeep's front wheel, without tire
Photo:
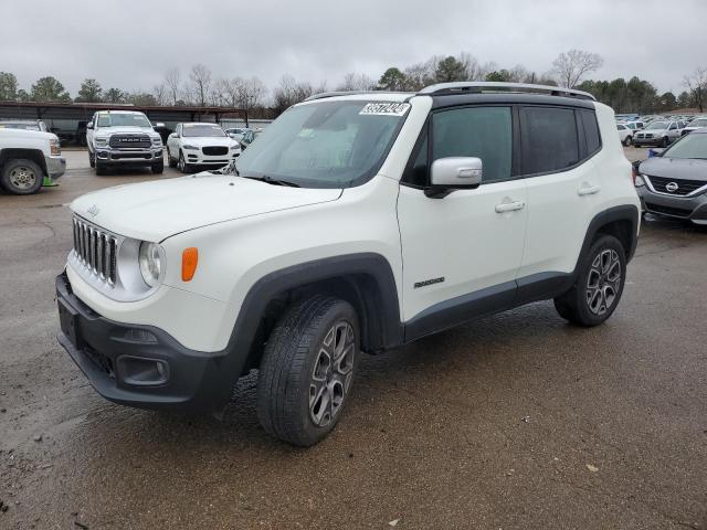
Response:
[{"label": "alloy rim of the white Jeep's front wheel, without tire", "polygon": [[336,322],[319,346],[309,382],[309,417],[326,427],[337,416],[351,386],[356,337],[347,321]]}]

